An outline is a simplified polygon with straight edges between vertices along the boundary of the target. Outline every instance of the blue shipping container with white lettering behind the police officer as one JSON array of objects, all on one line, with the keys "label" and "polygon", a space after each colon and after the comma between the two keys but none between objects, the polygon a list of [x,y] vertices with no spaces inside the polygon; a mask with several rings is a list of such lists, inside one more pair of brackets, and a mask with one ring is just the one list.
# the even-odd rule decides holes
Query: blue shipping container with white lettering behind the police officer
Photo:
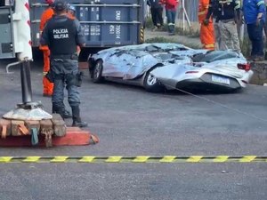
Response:
[{"label": "blue shipping container with white lettering behind the police officer", "polygon": [[[67,0],[76,7],[85,30],[86,47],[142,44],[146,0]],[[39,23],[44,0],[29,0],[33,47],[39,45]]]}]

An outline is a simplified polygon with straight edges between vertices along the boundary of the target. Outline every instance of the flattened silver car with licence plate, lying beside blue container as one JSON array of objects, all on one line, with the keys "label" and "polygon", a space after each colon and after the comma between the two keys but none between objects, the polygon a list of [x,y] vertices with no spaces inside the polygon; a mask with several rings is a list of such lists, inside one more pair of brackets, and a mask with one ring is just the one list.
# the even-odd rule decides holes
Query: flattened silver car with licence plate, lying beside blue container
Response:
[{"label": "flattened silver car with licence plate, lying beside blue container", "polygon": [[102,50],[89,57],[94,83],[104,79],[141,85],[149,92],[165,89],[236,91],[253,71],[234,51],[190,49],[182,44],[139,44]]}]

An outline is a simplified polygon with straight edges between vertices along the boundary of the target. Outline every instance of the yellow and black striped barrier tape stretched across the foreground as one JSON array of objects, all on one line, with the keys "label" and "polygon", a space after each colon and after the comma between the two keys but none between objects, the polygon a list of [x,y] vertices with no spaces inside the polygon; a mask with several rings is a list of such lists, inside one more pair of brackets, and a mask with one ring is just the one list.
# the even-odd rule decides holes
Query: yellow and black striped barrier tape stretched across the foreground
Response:
[{"label": "yellow and black striped barrier tape stretched across the foreground", "polygon": [[267,163],[267,156],[0,156],[8,163],[96,163],[96,164],[179,164],[179,163]]}]

